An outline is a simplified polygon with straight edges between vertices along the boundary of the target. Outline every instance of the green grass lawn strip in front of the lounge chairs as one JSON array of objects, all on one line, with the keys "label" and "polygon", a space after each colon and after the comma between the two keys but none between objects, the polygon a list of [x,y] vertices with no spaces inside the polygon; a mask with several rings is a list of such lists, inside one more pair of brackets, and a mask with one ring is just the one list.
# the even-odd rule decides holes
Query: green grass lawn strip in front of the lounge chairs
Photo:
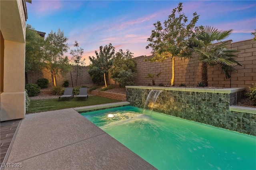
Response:
[{"label": "green grass lawn strip in front of the lounge chairs", "polygon": [[50,110],[67,109],[67,108],[73,108],[73,107],[92,106],[92,105],[107,104],[107,103],[114,103],[114,102],[121,102],[121,101],[109,99],[109,98],[103,98],[100,96],[89,96],[89,98],[86,101],[85,100],[76,101],[76,98],[73,98],[70,101],[60,100],[59,102],[58,102],[58,99],[31,100],[26,114],[40,112],[40,111],[50,111]]}]

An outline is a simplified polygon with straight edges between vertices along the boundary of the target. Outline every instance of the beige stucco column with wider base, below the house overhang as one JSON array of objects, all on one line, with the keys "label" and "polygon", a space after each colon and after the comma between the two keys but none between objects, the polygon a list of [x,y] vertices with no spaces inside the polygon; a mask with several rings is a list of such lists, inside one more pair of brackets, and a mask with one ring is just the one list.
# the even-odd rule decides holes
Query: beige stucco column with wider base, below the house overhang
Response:
[{"label": "beige stucco column with wider base, below the house overhang", "polygon": [[25,43],[4,41],[4,92],[1,94],[0,121],[20,119],[26,113]]}]

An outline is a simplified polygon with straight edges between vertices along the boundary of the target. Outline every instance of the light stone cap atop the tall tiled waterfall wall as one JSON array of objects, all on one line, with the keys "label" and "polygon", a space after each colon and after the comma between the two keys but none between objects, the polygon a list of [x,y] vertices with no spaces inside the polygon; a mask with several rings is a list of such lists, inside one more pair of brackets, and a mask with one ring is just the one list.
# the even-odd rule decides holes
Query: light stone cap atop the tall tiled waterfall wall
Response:
[{"label": "light stone cap atop the tall tiled waterfall wall", "polygon": [[212,93],[235,93],[244,91],[245,88],[186,88],[186,87],[152,87],[152,86],[125,86],[126,88],[174,90],[186,92],[212,92]]}]

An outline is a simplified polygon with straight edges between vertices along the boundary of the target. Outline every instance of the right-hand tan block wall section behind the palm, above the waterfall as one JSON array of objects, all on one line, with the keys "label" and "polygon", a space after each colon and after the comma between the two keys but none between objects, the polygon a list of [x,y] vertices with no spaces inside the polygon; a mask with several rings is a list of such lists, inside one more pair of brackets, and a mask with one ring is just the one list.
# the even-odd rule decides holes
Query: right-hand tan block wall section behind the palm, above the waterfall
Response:
[{"label": "right-hand tan block wall section behind the palm, above the waterfall", "polygon": [[[237,73],[231,74],[231,87],[248,88],[252,83],[256,83],[256,41],[245,40],[232,43],[228,41],[227,47],[239,50],[236,60],[242,66],[235,66]],[[152,57],[152,56],[151,56]],[[150,79],[145,78],[148,73],[162,72],[159,78],[156,78],[156,85],[163,83],[170,86],[172,78],[172,60],[167,59],[163,63],[145,62],[144,57],[136,57],[138,76],[136,83],[146,86],[151,83]],[[186,86],[196,86],[201,82],[201,63],[198,61],[198,55],[192,59],[175,59],[175,85],[181,83]],[[208,86],[230,87],[230,79],[226,79],[220,66],[208,66]]]}]

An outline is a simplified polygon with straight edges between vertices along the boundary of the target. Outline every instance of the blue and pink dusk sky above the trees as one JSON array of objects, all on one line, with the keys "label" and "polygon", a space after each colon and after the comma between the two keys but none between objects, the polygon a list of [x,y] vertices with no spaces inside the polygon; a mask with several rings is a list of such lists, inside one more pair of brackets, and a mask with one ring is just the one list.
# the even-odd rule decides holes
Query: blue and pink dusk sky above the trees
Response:
[{"label": "blue and pink dusk sky above the trees", "polygon": [[[57,32],[60,28],[68,38],[68,52],[75,49],[74,41],[78,41],[88,65],[88,56],[95,56],[95,50],[109,43],[116,51],[129,49],[134,57],[151,55],[151,49],[145,47],[154,29],[153,23],[167,20],[179,2],[183,3],[182,12],[189,21],[194,12],[200,15],[196,26],[233,29],[226,39],[233,42],[253,38],[255,0],[32,0],[32,4],[26,3],[26,23],[45,32],[46,36],[51,30]],[[69,53],[65,55],[70,56]]]}]

